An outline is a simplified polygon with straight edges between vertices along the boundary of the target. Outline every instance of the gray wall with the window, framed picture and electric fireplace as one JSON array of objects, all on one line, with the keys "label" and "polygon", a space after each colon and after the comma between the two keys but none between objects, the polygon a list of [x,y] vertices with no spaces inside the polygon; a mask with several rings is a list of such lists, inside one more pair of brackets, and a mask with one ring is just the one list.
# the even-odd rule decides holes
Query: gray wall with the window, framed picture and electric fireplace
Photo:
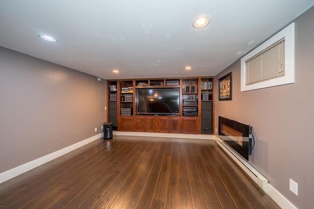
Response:
[{"label": "gray wall with the window, framed picture and electric fireplace", "polygon": [[[237,60],[216,76],[218,89],[218,78],[233,73],[233,100],[215,102],[215,120],[220,115],[253,126],[256,146],[250,164],[292,204],[309,209],[314,189],[314,7],[294,22],[295,83],[240,92]],[[298,196],[289,191],[289,178],[298,183]]]}]

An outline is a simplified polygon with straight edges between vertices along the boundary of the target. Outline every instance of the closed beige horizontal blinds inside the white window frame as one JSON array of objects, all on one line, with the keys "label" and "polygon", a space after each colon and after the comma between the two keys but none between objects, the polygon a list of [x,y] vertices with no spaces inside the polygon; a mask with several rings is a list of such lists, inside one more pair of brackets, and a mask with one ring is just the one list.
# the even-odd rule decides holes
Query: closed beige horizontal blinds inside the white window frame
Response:
[{"label": "closed beige horizontal blinds inside the white window frame", "polygon": [[285,76],[285,38],[245,61],[246,85]]}]

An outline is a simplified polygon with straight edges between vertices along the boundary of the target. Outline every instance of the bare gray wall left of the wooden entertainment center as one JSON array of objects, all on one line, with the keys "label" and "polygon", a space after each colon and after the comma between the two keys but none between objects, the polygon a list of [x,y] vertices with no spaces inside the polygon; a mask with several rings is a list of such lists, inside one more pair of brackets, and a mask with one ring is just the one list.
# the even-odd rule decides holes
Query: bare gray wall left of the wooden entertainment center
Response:
[{"label": "bare gray wall left of the wooden entertainment center", "polygon": [[105,119],[104,79],[0,47],[0,173],[101,133]]}]

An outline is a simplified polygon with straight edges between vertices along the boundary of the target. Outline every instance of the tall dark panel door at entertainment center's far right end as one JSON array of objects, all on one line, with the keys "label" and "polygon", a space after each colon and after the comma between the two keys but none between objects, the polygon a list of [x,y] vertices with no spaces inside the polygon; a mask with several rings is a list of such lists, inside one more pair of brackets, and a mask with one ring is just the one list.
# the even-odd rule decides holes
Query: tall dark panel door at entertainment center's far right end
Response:
[{"label": "tall dark panel door at entertainment center's far right end", "polygon": [[201,133],[212,133],[212,102],[202,102]]}]

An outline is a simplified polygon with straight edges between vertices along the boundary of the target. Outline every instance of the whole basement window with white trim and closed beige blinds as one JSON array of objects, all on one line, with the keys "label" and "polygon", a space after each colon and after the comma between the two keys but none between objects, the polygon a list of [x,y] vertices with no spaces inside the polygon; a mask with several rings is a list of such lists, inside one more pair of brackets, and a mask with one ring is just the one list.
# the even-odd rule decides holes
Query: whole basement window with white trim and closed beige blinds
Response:
[{"label": "whole basement window with white trim and closed beige blinds", "polygon": [[294,23],[241,58],[241,91],[294,83]]}]

